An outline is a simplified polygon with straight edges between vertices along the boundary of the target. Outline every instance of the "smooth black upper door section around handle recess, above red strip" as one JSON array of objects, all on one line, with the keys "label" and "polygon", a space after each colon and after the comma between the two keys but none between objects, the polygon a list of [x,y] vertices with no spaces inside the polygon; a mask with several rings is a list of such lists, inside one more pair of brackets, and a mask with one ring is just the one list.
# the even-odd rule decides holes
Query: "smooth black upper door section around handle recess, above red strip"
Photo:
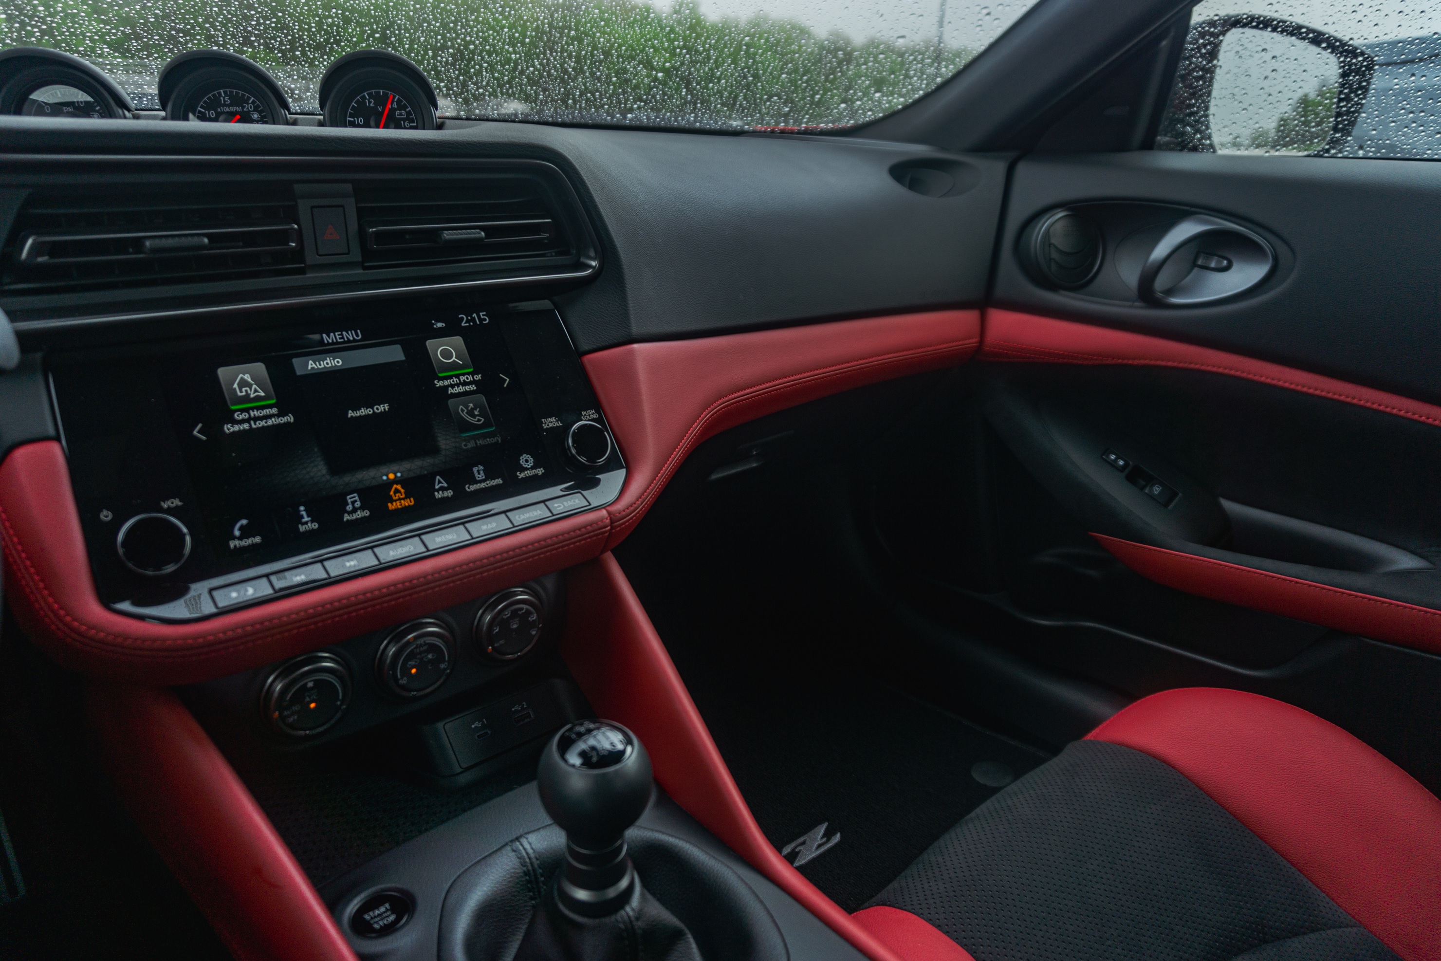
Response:
[{"label": "smooth black upper door section around handle recess, above red strip", "polygon": [[[1173,205],[1278,239],[1278,269],[1215,305],[1164,308],[1038,285],[1019,235],[1038,215],[1085,202]],[[1084,320],[1270,360],[1441,403],[1441,164],[1136,151],[1032,156],[1014,166],[993,304]],[[1107,238],[1102,274],[1114,274]],[[1288,261],[1290,265],[1288,265]]]}]

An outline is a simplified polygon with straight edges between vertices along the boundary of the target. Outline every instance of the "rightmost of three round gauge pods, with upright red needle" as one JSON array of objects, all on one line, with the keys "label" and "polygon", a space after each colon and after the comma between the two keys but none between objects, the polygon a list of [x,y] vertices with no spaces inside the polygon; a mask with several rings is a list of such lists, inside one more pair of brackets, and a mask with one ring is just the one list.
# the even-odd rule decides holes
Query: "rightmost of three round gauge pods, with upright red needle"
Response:
[{"label": "rightmost of three round gauge pods, with upright red needle", "polygon": [[388,50],[347,53],[320,78],[326,127],[435,130],[438,107],[421,68]]}]

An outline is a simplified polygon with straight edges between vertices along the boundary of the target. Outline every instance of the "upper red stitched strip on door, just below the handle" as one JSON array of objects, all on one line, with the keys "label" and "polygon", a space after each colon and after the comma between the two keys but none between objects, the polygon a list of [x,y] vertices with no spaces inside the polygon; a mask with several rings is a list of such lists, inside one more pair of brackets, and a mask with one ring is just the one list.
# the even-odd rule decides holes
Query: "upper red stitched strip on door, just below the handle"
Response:
[{"label": "upper red stitched strip on door, just below the handle", "polygon": [[1382,414],[1441,426],[1441,406],[1422,403],[1385,390],[1363,388],[1319,373],[1284,367],[1267,360],[1197,347],[1127,330],[1078,324],[1012,310],[986,311],[980,356],[983,360],[1029,363],[1136,365],[1185,367],[1242,377],[1274,388],[1330,398]]}]

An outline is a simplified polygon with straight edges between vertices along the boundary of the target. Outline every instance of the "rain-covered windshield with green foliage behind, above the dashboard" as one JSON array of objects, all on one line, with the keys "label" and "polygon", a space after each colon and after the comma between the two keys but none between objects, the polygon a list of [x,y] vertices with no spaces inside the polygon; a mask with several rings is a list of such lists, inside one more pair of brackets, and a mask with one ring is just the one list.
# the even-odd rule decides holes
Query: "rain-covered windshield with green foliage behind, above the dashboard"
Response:
[{"label": "rain-covered windshield with green foliage behind, above the dashboard", "polygon": [[137,109],[177,53],[267,68],[301,114],[339,56],[401,53],[441,117],[829,130],[935,88],[1035,0],[0,0],[0,46],[73,53]]}]

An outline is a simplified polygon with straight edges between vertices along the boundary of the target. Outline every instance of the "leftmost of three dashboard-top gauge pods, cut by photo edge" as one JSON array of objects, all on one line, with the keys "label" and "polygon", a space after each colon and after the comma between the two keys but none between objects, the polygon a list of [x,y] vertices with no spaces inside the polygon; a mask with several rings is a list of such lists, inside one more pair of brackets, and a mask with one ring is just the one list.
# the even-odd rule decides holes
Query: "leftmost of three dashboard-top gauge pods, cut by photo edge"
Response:
[{"label": "leftmost of three dashboard-top gauge pods, cut by photo edge", "polygon": [[125,92],[78,56],[37,46],[0,52],[0,114],[56,120],[128,120]]}]

